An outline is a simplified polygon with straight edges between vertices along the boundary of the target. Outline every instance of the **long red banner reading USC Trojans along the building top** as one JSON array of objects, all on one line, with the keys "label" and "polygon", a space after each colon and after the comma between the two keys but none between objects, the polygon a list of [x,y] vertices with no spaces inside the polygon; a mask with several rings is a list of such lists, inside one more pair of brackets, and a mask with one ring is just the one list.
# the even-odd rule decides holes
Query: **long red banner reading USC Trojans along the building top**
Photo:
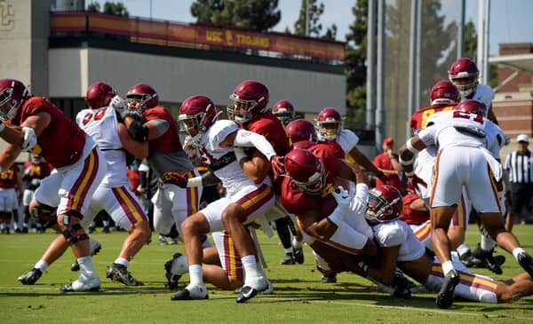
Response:
[{"label": "long red banner reading USC Trojans along the building top", "polygon": [[344,43],[310,38],[261,34],[232,29],[205,28],[168,21],[142,20],[85,12],[53,12],[52,32],[84,31],[131,36],[132,42],[179,46],[198,43],[253,50],[276,51],[321,59],[345,59]]}]

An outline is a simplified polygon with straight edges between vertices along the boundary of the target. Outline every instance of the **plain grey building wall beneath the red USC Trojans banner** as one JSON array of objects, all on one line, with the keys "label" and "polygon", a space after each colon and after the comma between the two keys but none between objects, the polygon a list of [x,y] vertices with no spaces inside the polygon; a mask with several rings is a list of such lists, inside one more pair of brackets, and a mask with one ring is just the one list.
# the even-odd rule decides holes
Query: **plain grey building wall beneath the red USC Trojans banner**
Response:
[{"label": "plain grey building wall beneath the red USC Trojans banner", "polygon": [[300,112],[346,111],[344,75],[97,48],[59,48],[48,54],[51,98],[83,97],[89,84],[106,81],[121,94],[135,83],[149,83],[166,102],[204,94],[226,106],[238,83],[256,79],[267,85],[271,104],[289,99]]}]

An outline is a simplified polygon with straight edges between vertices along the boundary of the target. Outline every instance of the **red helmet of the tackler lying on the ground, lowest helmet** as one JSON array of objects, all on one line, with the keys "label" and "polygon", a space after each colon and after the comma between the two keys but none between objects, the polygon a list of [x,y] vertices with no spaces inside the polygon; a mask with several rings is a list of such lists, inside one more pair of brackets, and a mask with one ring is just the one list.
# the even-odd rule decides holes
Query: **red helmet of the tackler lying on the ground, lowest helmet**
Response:
[{"label": "red helmet of the tackler lying on the ground, lowest helmet", "polygon": [[402,193],[394,186],[382,185],[370,189],[365,211],[368,220],[377,220],[379,223],[393,220],[400,217],[402,210]]}]

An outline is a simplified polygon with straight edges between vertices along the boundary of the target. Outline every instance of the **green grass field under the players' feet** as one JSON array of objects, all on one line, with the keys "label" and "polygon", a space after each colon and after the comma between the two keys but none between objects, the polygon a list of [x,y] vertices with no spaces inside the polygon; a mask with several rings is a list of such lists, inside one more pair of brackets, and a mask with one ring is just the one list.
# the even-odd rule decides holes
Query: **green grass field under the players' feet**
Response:
[{"label": "green grass field under the players' feet", "polygon": [[[100,229],[99,229],[100,230]],[[533,225],[516,225],[514,233],[525,249],[533,252]],[[93,233],[103,249],[93,258],[102,281],[95,293],[63,294],[60,286],[73,281],[74,261],[68,251],[52,265],[34,286],[24,286],[17,277],[26,273],[44,252],[55,234],[0,235],[0,323],[533,323],[533,296],[512,304],[481,304],[457,301],[449,310],[434,304],[434,293],[422,292],[410,300],[400,300],[380,292],[370,281],[352,273],[338,274],[336,284],[320,282],[314,270],[311,249],[305,247],[304,265],[279,265],[283,256],[277,238],[259,233],[268,262],[266,269],[274,284],[273,295],[256,296],[247,304],[236,304],[235,293],[212,286],[210,299],[171,302],[171,292],[164,288],[163,263],[182,245],[145,246],[130,265],[133,275],[145,281],[143,287],[125,287],[105,278],[126,233]],[[475,226],[467,233],[473,246],[479,240]],[[507,261],[503,280],[520,273],[511,255],[501,249]],[[485,269],[477,273],[489,274]],[[185,287],[188,276],[181,280]]]}]

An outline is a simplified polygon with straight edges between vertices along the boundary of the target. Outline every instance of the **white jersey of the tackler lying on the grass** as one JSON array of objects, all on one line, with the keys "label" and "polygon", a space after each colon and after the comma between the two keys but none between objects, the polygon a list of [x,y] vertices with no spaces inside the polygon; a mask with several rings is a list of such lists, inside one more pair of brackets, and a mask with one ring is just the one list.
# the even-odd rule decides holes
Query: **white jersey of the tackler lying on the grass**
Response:
[{"label": "white jersey of the tackler lying on the grass", "polygon": [[410,226],[400,219],[373,225],[372,231],[374,231],[374,240],[381,248],[401,245],[398,261],[413,261],[426,253],[424,243],[418,241]]}]

